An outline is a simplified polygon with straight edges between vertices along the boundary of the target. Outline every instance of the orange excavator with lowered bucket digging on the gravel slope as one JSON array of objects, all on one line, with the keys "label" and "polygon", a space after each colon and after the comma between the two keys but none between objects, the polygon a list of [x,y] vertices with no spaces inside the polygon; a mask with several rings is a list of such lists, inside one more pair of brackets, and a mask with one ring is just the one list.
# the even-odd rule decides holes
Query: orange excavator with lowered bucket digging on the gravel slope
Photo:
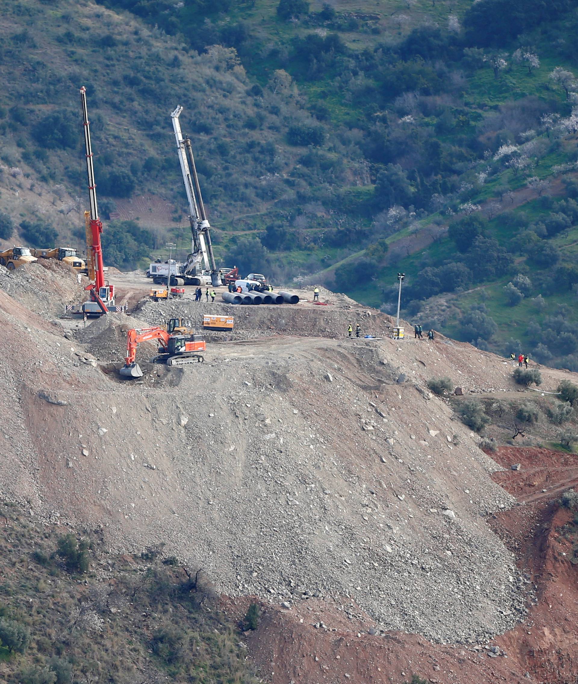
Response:
[{"label": "orange excavator with lowered bucket digging on the gravel slope", "polygon": [[200,363],[207,345],[202,335],[171,334],[164,328],[133,328],[127,333],[127,356],[125,365],[120,369],[125,378],[142,378],[142,370],[136,363],[136,348],[141,342],[159,341],[159,354],[152,359],[153,363],[166,363],[167,366],[184,366],[186,363]]}]

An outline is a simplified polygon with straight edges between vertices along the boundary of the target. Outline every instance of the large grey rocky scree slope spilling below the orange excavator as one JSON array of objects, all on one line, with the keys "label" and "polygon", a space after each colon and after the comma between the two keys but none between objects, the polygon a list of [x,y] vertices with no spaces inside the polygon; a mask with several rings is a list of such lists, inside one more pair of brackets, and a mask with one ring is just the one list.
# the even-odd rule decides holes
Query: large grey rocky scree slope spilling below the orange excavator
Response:
[{"label": "large grey rocky scree slope spilling below the orange excavator", "polygon": [[[91,324],[101,343],[111,321]],[[31,516],[102,525],[119,551],[165,542],[227,594],[345,613],[353,598],[377,629],[467,641],[523,616],[483,519],[513,501],[489,477],[499,466],[424,389],[464,373],[468,345],[268,337],[119,382],[5,291],[0,324],[0,492]],[[481,359],[470,384],[508,382]]]}]

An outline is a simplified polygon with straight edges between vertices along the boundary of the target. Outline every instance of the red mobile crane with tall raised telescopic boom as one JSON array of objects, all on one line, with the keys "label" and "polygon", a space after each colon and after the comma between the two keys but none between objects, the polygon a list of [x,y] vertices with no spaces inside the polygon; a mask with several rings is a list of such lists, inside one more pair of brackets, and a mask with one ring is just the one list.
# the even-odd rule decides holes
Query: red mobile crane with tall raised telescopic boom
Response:
[{"label": "red mobile crane with tall raised telescopic boom", "polygon": [[109,311],[121,311],[120,306],[114,306],[114,285],[109,285],[104,279],[102,261],[101,233],[102,221],[99,218],[97,205],[97,184],[95,183],[95,168],[92,163],[92,146],[90,144],[90,121],[86,107],[86,88],[80,89],[82,116],[84,124],[84,146],[86,148],[86,172],[88,174],[88,194],[90,196],[90,211],[84,212],[86,224],[86,267],[88,278],[92,282],[86,286],[90,292],[90,300],[81,305],[81,312],[92,316],[101,316]]}]

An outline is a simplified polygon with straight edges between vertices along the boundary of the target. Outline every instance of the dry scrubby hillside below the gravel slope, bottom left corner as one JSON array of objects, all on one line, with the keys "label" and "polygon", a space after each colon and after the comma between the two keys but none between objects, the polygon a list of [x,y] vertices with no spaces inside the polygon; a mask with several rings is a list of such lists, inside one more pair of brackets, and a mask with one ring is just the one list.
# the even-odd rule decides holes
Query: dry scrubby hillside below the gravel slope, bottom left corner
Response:
[{"label": "dry scrubby hillside below the gravel slope, bottom left corner", "polygon": [[210,583],[175,558],[113,555],[97,531],[77,538],[7,503],[1,516],[2,681],[257,681]]}]

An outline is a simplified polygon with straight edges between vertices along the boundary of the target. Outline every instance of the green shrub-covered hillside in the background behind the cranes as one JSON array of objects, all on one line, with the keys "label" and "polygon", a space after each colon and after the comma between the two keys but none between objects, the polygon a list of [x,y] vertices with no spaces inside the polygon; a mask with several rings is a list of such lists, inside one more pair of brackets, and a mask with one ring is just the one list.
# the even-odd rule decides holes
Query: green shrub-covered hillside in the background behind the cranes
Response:
[{"label": "green shrub-covered hillside in the background behind the cranes", "polygon": [[105,257],[186,253],[181,103],[219,259],[578,367],[576,5],[5,2],[0,237],[81,239],[86,83]]}]

